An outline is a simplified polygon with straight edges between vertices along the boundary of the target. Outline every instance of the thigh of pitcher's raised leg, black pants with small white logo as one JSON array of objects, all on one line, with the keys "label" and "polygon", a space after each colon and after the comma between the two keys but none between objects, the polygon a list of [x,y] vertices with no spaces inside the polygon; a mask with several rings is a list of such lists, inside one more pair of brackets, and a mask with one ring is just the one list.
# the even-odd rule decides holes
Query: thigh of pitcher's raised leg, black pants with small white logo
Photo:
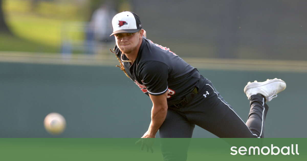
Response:
[{"label": "thigh of pitcher's raised leg, black pants with small white logo", "polygon": [[183,109],[188,119],[220,138],[257,138],[213,84],[201,79],[199,94]]}]

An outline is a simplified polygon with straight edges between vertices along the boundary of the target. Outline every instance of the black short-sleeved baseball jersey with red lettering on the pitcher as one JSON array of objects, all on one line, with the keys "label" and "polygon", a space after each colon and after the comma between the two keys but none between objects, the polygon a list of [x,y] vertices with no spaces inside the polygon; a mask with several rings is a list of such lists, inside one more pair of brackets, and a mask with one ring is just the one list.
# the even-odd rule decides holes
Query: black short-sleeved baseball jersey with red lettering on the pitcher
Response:
[{"label": "black short-sleeved baseball jersey with red lettering on the pitcher", "polygon": [[[119,58],[128,60],[116,45],[115,53]],[[122,63],[129,77],[146,95],[162,95],[167,92],[169,106],[187,95],[200,78],[196,68],[169,48],[155,44],[145,37],[134,63]]]}]

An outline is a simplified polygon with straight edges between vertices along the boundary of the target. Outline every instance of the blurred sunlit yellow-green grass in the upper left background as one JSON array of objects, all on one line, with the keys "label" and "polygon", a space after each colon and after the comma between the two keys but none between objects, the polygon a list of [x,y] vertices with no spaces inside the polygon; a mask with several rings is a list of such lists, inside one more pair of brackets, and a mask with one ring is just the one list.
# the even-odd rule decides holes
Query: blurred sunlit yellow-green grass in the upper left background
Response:
[{"label": "blurred sunlit yellow-green grass in the upper left background", "polygon": [[[33,10],[30,1],[4,1],[6,22],[16,37],[1,34],[0,49],[3,51],[29,51],[58,53],[63,37],[63,25],[72,21],[84,21],[86,11],[72,1],[61,4],[40,2]],[[67,29],[69,30],[69,28]],[[80,32],[68,36],[83,40]],[[14,45],[12,45],[14,44]]]}]

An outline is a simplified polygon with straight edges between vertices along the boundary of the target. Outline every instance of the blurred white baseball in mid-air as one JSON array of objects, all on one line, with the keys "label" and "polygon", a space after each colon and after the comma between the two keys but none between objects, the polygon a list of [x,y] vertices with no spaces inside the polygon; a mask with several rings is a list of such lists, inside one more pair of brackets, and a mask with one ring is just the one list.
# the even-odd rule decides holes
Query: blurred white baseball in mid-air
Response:
[{"label": "blurred white baseball in mid-air", "polygon": [[53,135],[61,134],[66,127],[65,118],[58,113],[50,113],[44,120],[45,129]]}]

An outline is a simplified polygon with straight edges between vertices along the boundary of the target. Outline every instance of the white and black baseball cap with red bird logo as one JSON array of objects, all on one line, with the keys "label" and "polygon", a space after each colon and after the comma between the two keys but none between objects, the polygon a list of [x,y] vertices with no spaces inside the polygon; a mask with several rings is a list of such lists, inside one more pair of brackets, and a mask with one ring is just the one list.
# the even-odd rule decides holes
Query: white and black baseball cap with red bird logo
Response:
[{"label": "white and black baseball cap with red bird logo", "polygon": [[130,11],[123,11],[116,14],[112,19],[113,33],[134,33],[138,32],[142,28],[140,17],[137,14]]}]

